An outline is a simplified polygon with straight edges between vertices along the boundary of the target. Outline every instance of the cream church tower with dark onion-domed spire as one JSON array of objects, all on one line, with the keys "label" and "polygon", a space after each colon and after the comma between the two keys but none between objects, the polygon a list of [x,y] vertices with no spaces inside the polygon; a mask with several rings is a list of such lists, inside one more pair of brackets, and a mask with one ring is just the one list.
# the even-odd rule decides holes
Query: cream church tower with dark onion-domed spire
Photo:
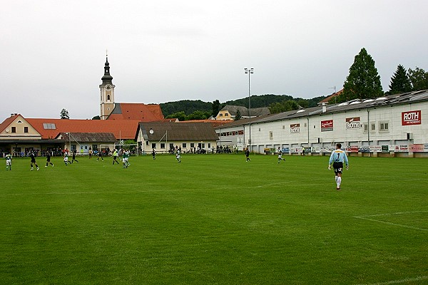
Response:
[{"label": "cream church tower with dark onion-domed spire", "polygon": [[101,90],[101,120],[106,120],[114,108],[114,88],[116,86],[111,82],[113,76],[110,75],[110,65],[106,55],[106,64],[104,65],[104,76],[101,78],[103,83],[100,85]]}]

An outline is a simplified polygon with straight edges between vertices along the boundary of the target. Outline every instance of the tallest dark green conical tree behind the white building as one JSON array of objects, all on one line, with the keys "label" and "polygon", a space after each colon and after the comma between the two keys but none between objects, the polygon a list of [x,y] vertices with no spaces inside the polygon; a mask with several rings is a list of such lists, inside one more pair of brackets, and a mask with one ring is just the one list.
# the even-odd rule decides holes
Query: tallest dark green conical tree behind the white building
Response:
[{"label": "tallest dark green conical tree behind the white building", "polygon": [[361,48],[360,53],[354,58],[350,74],[343,84],[343,93],[338,96],[338,99],[343,102],[353,99],[377,98],[382,95],[380,76],[374,66],[374,60],[365,48]]}]

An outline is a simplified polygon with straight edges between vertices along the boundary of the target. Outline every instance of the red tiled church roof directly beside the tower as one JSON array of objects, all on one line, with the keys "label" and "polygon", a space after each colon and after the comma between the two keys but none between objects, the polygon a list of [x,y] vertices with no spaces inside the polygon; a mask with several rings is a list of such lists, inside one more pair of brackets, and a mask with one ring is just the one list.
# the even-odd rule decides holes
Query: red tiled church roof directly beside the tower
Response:
[{"label": "red tiled church roof directly beside the tower", "polygon": [[143,103],[116,103],[107,120],[139,120],[153,122],[163,120],[161,105]]}]

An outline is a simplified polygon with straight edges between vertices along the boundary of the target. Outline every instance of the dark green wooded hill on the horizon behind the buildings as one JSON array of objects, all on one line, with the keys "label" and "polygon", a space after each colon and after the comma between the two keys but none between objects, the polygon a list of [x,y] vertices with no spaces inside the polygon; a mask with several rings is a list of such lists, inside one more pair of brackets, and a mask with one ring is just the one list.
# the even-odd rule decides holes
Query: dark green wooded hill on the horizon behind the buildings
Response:
[{"label": "dark green wooded hill on the horizon behind the buildings", "polygon": [[[277,113],[278,105],[295,105],[302,108],[315,107],[325,96],[312,99],[293,98],[290,95],[252,95],[251,108],[268,107],[271,113]],[[290,104],[292,102],[293,104]],[[297,103],[297,104],[296,104]],[[202,100],[179,100],[174,102],[161,103],[162,113],[165,118],[178,118],[179,120],[193,120],[200,116],[209,118],[211,115],[217,115],[225,105],[238,105],[248,108],[248,97],[237,100],[229,100],[225,103],[203,102]],[[275,107],[276,106],[276,107]]]}]

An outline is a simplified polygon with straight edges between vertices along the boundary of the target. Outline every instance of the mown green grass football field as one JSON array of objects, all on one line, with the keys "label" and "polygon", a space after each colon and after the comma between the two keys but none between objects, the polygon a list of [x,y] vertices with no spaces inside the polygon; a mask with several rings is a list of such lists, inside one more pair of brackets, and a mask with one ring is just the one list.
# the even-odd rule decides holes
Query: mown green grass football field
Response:
[{"label": "mown green grass football field", "polygon": [[6,172],[0,284],[428,284],[428,160],[78,157]]}]

